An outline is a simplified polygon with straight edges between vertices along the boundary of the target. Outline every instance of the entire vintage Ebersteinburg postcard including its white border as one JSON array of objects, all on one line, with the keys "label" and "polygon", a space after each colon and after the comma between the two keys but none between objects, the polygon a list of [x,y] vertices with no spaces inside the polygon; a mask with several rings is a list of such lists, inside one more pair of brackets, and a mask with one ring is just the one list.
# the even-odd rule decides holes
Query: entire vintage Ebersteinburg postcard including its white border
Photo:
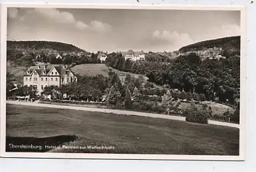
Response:
[{"label": "entire vintage Ebersteinburg postcard including its white border", "polygon": [[245,7],[1,11],[2,157],[244,160]]}]

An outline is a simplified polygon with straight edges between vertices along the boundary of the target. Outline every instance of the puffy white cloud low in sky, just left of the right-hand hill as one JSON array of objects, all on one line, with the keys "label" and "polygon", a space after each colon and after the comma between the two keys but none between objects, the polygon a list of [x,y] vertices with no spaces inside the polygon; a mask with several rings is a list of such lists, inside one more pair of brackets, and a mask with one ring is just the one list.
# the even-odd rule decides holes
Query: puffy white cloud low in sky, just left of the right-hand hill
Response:
[{"label": "puffy white cloud low in sky, just left of the right-hand hill", "polygon": [[152,36],[153,38],[158,39],[159,41],[163,41],[165,44],[176,48],[180,48],[181,46],[193,43],[193,40],[187,33],[178,33],[177,31],[170,32],[163,30],[160,32],[157,30],[152,33]]}]

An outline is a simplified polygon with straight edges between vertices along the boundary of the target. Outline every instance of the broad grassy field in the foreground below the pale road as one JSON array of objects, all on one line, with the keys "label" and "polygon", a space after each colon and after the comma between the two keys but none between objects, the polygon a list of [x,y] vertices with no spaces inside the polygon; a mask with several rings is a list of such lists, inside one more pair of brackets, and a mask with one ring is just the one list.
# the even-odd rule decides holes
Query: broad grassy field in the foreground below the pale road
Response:
[{"label": "broad grassy field in the foreground below the pale road", "polygon": [[50,150],[68,153],[238,155],[239,129],[7,104],[7,147],[10,143],[114,146],[111,150],[67,147]]}]

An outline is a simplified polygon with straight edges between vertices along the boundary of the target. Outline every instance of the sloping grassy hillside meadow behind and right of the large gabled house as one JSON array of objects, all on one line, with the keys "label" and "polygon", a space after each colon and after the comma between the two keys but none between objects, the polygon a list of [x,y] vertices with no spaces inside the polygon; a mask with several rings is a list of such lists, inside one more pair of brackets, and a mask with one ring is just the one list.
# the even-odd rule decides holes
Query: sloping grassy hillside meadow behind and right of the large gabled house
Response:
[{"label": "sloping grassy hillside meadow behind and right of the large gabled house", "polygon": [[[111,68],[113,72],[116,72],[121,80],[123,80],[126,76],[126,72],[121,72],[116,69]],[[72,68],[77,74],[80,75],[88,75],[88,76],[95,76],[95,75],[103,75],[108,77],[109,69],[105,66],[105,64],[82,64],[77,65]],[[139,77],[137,74],[129,73],[134,77]],[[143,76],[145,80],[147,80],[146,76]]]}]

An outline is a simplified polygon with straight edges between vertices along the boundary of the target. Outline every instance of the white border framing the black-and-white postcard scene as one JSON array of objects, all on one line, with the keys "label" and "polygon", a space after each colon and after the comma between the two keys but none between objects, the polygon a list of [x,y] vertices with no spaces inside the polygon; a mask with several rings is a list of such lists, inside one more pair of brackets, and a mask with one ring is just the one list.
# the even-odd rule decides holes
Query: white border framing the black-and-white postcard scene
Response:
[{"label": "white border framing the black-and-white postcard scene", "polygon": [[[159,9],[159,10],[239,10],[241,11],[241,64],[240,64],[240,148],[239,156],[206,155],[144,155],[144,154],[81,154],[81,153],[14,153],[6,152],[6,44],[7,8],[84,8],[84,9]],[[167,6],[167,5],[95,5],[95,4],[24,4],[1,5],[1,91],[0,91],[0,156],[6,158],[68,158],[68,159],[136,159],[136,160],[245,160],[246,122],[246,7],[244,6]]]}]

